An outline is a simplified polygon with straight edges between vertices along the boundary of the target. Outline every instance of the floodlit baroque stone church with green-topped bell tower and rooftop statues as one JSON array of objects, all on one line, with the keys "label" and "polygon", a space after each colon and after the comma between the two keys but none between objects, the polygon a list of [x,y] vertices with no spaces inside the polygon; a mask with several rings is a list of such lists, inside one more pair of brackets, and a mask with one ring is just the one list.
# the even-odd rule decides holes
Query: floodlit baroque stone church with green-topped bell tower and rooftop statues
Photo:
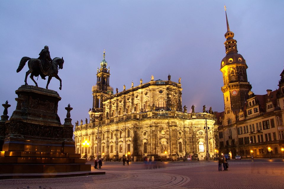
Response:
[{"label": "floodlit baroque stone church with green-topped bell tower and rooftop statues", "polygon": [[[82,157],[118,161],[213,159],[218,147],[218,125],[210,109],[187,113],[182,107],[182,88],[178,82],[154,80],[123,87],[114,94],[109,85],[105,53],[97,82],[92,87],[93,107],[86,118],[75,124],[76,153]],[[84,145],[85,141],[89,145]],[[206,155],[207,154],[207,155]]]}]

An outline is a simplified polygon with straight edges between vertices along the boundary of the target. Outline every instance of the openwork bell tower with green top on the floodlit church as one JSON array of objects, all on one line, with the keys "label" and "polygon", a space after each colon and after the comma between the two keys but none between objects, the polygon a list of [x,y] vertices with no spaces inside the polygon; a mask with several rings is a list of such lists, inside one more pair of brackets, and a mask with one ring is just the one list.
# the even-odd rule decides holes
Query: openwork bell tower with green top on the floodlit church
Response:
[{"label": "openwork bell tower with green top on the floodlit church", "polygon": [[103,102],[106,97],[113,94],[113,88],[109,85],[109,69],[106,68],[105,51],[103,60],[100,63],[101,68],[97,70],[97,83],[92,87],[93,92],[93,107],[89,110],[90,122],[99,120],[103,113]]}]

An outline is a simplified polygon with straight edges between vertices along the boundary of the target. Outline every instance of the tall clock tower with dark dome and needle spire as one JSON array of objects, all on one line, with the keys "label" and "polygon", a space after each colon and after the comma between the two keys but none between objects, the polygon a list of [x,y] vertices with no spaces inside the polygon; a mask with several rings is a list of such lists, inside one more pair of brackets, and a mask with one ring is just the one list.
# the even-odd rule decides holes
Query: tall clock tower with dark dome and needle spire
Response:
[{"label": "tall clock tower with dark dome and needle spire", "polygon": [[237,41],[233,39],[234,33],[230,30],[225,7],[227,32],[225,33],[226,41],[224,43],[226,56],[221,61],[224,86],[221,90],[224,95],[225,117],[224,125],[229,125],[235,121],[235,115],[240,109],[243,109],[248,93],[251,89],[246,74],[246,60],[241,54],[238,54]]}]

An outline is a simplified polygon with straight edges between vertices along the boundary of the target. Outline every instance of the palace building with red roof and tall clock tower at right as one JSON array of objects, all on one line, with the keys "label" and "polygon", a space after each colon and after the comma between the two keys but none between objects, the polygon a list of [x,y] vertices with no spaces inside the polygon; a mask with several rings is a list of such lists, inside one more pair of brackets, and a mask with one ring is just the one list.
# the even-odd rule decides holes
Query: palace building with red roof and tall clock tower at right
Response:
[{"label": "palace building with red roof and tall clock tower at right", "polygon": [[231,157],[284,157],[284,70],[280,74],[279,89],[268,89],[267,94],[255,95],[247,80],[248,66],[243,56],[238,54],[237,41],[230,31],[227,13],[226,21],[226,56],[220,69],[225,109],[216,114],[220,125],[220,151]]}]

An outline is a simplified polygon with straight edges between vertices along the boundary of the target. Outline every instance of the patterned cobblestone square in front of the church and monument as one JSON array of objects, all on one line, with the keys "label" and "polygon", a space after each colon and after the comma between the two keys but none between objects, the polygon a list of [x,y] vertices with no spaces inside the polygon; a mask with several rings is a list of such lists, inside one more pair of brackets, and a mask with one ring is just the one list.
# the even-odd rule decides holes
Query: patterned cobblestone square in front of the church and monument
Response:
[{"label": "patterned cobblestone square in front of the church and monument", "polygon": [[229,161],[228,171],[217,162],[177,162],[144,165],[104,162],[106,175],[49,179],[0,180],[0,189],[134,189],[134,188],[284,188],[284,162]]}]

